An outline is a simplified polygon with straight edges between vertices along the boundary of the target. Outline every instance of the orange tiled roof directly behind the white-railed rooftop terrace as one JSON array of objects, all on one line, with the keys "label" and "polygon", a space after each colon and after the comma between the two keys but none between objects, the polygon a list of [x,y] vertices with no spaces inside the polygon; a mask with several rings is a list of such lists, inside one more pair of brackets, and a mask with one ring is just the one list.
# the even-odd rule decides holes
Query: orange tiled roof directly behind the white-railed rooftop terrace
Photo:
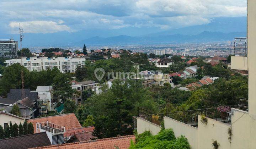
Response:
[{"label": "orange tiled roof directly behind the white-railed rooftop terrace", "polygon": [[70,129],[75,129],[75,128],[82,128],[82,126],[80,125],[74,113],[48,116],[48,117],[42,117],[42,118],[34,118],[31,120],[28,120],[28,123],[31,122],[33,124],[34,133],[36,133],[36,123],[42,123],[47,121],[60,126],[65,126],[66,131]]}]

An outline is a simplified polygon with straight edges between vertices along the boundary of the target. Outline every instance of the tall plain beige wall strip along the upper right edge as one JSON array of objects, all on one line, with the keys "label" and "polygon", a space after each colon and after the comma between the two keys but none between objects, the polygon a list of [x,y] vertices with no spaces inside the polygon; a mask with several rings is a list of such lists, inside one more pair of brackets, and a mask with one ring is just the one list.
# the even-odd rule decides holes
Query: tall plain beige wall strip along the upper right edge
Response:
[{"label": "tall plain beige wall strip along the upper right edge", "polygon": [[256,120],[256,0],[247,1],[249,115]]}]

